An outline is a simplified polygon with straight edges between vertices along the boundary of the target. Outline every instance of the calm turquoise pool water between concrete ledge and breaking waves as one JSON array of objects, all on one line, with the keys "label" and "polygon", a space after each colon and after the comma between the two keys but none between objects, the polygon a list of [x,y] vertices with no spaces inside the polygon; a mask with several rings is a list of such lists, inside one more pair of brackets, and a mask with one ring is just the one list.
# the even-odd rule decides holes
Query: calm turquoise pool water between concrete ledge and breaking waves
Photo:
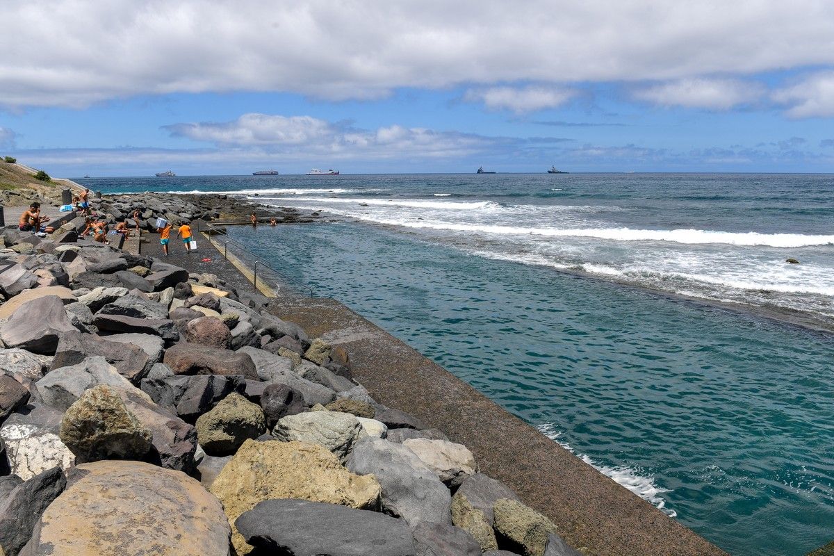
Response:
[{"label": "calm turquoise pool water between concrete ledge and breaking waves", "polygon": [[361,225],[233,234],[728,552],[834,537],[831,338]]}]

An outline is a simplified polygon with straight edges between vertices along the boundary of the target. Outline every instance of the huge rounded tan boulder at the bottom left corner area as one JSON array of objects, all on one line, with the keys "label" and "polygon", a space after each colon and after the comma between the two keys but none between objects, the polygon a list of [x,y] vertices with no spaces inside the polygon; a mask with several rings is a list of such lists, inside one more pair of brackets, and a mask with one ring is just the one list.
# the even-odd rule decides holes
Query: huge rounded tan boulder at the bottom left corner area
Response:
[{"label": "huge rounded tan boulder at the bottom left corner area", "polygon": [[223,508],[184,473],[108,460],[79,465],[68,483],[43,513],[28,554],[229,555]]}]

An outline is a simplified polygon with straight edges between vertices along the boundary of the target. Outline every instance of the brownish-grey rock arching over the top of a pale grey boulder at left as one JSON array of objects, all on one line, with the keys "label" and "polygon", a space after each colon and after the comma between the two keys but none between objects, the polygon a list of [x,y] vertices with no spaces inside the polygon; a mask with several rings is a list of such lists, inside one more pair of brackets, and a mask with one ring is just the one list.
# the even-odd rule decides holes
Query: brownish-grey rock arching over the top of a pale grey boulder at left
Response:
[{"label": "brownish-grey rock arching over the top of a pale grey boulder at left", "polygon": [[83,362],[91,356],[101,356],[113,364],[119,374],[133,383],[138,383],[149,369],[148,354],[129,343],[111,342],[92,334],[63,334],[58,341],[50,368],[69,367]]}]

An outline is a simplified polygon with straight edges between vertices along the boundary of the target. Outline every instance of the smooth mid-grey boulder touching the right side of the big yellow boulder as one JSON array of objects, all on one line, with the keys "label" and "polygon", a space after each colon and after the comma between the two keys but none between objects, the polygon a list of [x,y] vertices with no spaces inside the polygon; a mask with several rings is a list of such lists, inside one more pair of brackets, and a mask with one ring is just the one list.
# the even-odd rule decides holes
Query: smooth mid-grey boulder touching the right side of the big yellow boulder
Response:
[{"label": "smooth mid-grey boulder touching the right side of the big yellow boulder", "polygon": [[412,527],[422,521],[451,523],[449,489],[409,448],[382,438],[362,438],[345,467],[359,475],[374,473],[384,510]]}]

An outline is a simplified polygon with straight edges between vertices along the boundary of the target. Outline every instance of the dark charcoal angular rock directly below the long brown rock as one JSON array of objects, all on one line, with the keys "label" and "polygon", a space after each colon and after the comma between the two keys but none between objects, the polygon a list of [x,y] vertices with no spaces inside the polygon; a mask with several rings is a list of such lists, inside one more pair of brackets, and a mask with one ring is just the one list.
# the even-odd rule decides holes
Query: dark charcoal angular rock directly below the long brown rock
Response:
[{"label": "dark charcoal angular rock directly below the long brown rock", "polygon": [[230,393],[242,393],[245,383],[239,375],[171,375],[143,378],[140,388],[161,407],[193,423]]}]

